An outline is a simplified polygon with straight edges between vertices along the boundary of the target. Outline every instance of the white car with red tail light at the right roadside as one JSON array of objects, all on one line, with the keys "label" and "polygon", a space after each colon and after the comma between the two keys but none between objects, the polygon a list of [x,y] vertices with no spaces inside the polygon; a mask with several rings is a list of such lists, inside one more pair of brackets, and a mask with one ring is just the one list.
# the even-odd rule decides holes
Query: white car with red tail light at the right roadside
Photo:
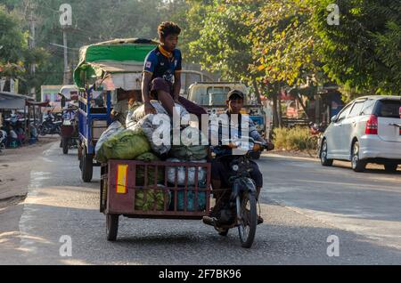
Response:
[{"label": "white car with red tail light at the right roadside", "polygon": [[348,160],[356,172],[377,163],[395,172],[401,165],[401,97],[364,96],[349,103],[323,134],[320,159]]}]

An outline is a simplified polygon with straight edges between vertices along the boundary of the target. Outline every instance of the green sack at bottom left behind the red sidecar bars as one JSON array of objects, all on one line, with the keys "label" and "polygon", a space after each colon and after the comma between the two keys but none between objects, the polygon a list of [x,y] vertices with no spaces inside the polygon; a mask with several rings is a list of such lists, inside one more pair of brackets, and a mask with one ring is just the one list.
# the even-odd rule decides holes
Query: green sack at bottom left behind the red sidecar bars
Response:
[{"label": "green sack at bottom left behind the red sidecar bars", "polygon": [[[136,190],[135,210],[139,211],[163,211],[170,206],[171,195],[169,190]],[[156,207],[155,207],[156,206]]]}]

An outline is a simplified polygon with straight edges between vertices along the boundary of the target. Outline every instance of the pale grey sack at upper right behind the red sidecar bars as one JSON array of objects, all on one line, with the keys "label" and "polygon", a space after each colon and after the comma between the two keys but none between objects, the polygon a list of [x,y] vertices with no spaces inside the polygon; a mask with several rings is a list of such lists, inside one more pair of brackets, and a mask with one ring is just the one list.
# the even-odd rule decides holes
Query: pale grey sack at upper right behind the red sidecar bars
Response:
[{"label": "pale grey sack at upper right behind the red sidecar bars", "polygon": [[[180,160],[177,158],[169,158],[166,161],[168,162],[187,162],[184,160]],[[193,163],[207,163],[206,160],[200,161],[192,161]],[[188,186],[195,185],[195,176],[196,171],[198,169],[198,185],[203,185],[206,183],[206,168],[204,167],[188,167]],[[168,166],[168,182],[175,185],[177,183],[178,186],[185,186],[185,166]]]}]

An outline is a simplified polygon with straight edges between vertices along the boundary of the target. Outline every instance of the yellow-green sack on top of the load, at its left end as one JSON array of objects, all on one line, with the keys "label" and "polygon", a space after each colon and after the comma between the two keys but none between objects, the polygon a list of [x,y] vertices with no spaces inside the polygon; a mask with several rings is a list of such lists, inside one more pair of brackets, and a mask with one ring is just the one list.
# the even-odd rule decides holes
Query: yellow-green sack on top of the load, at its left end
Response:
[{"label": "yellow-green sack on top of the load, at its left end", "polygon": [[98,154],[102,157],[101,162],[105,162],[109,159],[134,160],[149,151],[151,151],[151,145],[143,133],[126,129],[103,142]]}]

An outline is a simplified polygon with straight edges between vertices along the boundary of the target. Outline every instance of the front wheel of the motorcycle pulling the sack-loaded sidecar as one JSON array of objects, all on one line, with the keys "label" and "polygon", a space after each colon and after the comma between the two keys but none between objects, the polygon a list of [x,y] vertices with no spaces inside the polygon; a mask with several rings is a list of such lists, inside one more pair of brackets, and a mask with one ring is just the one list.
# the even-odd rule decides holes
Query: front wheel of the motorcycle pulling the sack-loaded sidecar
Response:
[{"label": "front wheel of the motorcycle pulling the sack-loaded sidecar", "polygon": [[237,212],[239,218],[238,231],[240,233],[241,246],[250,248],[255,239],[258,224],[257,200],[255,193],[247,191],[237,197]]}]

